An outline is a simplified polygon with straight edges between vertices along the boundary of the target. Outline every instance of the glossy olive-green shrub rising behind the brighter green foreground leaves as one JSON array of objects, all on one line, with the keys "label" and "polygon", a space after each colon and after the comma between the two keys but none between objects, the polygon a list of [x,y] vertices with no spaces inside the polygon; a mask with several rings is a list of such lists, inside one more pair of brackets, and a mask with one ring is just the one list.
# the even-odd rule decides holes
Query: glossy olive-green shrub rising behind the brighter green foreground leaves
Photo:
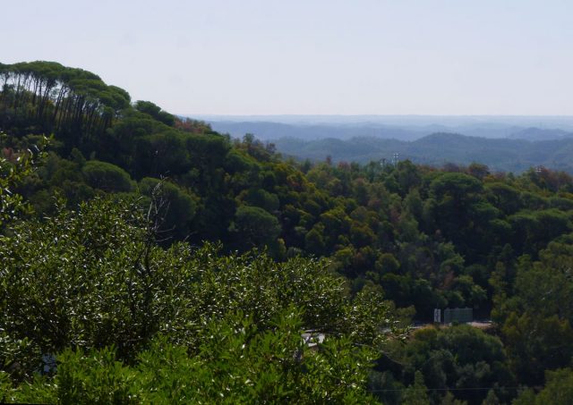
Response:
[{"label": "glossy olive-green shrub rising behind the brighter green foreground leaves", "polygon": [[230,314],[264,331],[291,307],[300,311],[299,329],[348,342],[372,345],[393,326],[380,296],[347,298],[324,261],[278,264],[257,252],[225,257],[184,243],[161,249],[153,224],[128,202],[97,198],[58,211],[1,237],[0,328],[7,345],[26,340],[26,359],[114,346],[119,359],[133,362],[158,334],[197,352],[210,325]]}]

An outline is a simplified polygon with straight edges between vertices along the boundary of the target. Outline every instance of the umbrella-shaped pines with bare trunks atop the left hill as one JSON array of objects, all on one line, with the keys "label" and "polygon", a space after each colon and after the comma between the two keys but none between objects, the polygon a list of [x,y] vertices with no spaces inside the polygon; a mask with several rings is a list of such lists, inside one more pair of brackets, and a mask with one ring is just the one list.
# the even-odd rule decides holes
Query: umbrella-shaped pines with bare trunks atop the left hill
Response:
[{"label": "umbrella-shaped pines with bare trunks atop the left hill", "polygon": [[[69,144],[97,144],[120,111],[126,91],[98,75],[60,63],[35,61],[0,66],[0,124],[15,132],[56,131]],[[71,148],[67,149],[68,151]]]}]

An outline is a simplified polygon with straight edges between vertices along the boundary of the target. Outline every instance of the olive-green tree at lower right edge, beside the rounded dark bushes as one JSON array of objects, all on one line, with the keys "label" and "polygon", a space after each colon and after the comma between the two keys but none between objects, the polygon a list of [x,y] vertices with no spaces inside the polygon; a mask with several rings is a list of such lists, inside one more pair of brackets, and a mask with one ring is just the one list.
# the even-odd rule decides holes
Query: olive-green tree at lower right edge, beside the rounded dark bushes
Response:
[{"label": "olive-green tree at lower right edge, beside the rounded dark bushes", "polygon": [[553,241],[539,256],[517,266],[514,295],[502,298],[496,312],[511,366],[527,384],[573,357],[573,246],[569,238]]}]

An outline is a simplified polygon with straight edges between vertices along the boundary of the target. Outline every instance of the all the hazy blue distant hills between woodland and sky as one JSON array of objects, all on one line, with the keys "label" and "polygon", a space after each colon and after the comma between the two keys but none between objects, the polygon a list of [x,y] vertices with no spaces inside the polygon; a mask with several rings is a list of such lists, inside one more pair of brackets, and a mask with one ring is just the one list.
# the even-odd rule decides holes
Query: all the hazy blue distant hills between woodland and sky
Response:
[{"label": "all the hazy blue distant hills between woodland and sky", "polygon": [[296,159],[369,162],[409,159],[441,166],[489,165],[519,173],[537,166],[573,173],[567,116],[198,116],[214,130],[252,133]]}]

